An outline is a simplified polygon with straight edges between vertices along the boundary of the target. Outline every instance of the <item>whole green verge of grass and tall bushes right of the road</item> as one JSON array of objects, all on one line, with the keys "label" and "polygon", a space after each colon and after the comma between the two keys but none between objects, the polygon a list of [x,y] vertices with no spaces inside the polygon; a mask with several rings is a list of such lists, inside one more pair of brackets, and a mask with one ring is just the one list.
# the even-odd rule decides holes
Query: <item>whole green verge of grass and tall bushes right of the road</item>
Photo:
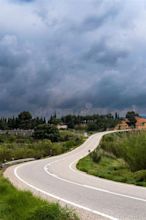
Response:
[{"label": "whole green verge of grass and tall bushes right of the road", "polygon": [[100,146],[77,168],[113,181],[146,186],[146,132],[105,135]]}]

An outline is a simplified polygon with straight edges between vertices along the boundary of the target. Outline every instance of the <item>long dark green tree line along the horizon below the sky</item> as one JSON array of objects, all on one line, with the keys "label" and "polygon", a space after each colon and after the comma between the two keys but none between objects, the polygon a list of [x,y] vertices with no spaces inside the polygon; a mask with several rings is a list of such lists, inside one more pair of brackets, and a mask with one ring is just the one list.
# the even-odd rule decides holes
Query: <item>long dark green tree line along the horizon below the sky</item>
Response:
[{"label": "long dark green tree line along the horizon below the sky", "polygon": [[70,129],[84,129],[88,131],[107,130],[114,128],[119,122],[120,117],[117,113],[106,115],[66,115],[60,118],[56,114],[51,115],[49,120],[42,117],[32,117],[32,114],[28,111],[23,111],[16,117],[2,117],[0,118],[1,130],[13,130],[13,129],[35,129],[39,125],[58,125],[66,124]]}]

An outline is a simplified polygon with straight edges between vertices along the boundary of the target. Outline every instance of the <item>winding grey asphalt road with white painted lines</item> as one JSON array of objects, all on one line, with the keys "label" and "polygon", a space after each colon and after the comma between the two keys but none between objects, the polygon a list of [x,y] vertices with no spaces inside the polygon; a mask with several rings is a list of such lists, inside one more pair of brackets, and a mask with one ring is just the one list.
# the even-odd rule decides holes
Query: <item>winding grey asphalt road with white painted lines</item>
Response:
[{"label": "winding grey asphalt road with white painted lines", "polygon": [[146,220],[146,188],[101,179],[76,169],[77,161],[95,149],[106,133],[109,132],[90,136],[80,147],[61,156],[10,167],[5,176],[17,186],[25,185],[40,195],[92,213],[97,219]]}]

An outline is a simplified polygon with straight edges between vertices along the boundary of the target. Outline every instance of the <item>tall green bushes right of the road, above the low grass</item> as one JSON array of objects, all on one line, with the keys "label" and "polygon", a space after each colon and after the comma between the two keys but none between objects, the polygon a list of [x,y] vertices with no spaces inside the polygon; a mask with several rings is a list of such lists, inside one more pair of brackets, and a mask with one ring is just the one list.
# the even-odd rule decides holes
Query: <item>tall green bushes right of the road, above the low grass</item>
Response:
[{"label": "tall green bushes right of the road, above the low grass", "polygon": [[146,132],[133,131],[106,135],[101,148],[123,158],[132,171],[146,169]]}]

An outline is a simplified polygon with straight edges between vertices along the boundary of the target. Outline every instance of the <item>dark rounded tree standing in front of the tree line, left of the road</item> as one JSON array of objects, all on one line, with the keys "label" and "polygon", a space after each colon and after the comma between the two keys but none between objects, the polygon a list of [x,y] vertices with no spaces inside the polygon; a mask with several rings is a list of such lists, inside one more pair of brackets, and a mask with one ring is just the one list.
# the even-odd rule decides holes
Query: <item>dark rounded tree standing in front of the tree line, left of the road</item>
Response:
[{"label": "dark rounded tree standing in front of the tree line, left of the road", "polygon": [[34,129],[33,137],[35,139],[50,139],[52,142],[57,142],[60,139],[60,133],[54,125],[42,124]]}]

